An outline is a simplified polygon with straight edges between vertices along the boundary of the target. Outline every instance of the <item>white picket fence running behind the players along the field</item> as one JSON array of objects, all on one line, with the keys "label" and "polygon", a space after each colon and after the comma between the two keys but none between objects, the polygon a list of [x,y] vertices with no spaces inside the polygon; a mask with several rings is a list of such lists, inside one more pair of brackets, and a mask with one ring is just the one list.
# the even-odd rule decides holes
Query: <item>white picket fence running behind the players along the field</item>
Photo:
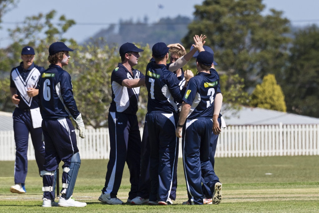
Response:
[{"label": "white picket fence running behind the players along the field", "polygon": [[[143,129],[141,128],[141,134]],[[15,160],[13,131],[0,131],[0,160]],[[182,158],[180,143],[179,157]],[[78,137],[82,159],[108,159],[107,128],[86,129],[84,139]],[[319,125],[251,125],[222,129],[216,157],[319,155]],[[34,150],[29,137],[28,159]]]}]

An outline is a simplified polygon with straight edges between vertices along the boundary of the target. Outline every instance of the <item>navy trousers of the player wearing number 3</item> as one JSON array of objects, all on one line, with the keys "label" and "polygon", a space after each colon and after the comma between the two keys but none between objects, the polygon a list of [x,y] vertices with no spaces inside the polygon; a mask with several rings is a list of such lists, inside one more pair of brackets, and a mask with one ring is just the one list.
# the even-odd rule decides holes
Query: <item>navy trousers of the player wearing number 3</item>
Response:
[{"label": "navy trousers of the player wearing number 3", "polygon": [[202,180],[210,190],[219,181],[209,160],[212,120],[199,117],[183,127],[183,165],[190,204],[203,204]]}]

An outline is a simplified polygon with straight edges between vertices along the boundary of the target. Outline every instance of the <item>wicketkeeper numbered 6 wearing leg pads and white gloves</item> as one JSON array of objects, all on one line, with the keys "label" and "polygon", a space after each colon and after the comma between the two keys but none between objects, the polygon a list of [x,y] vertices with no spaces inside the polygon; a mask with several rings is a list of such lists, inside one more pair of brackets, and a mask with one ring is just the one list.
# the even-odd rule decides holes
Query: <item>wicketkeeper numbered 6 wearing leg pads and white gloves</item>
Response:
[{"label": "wicketkeeper numbered 6 wearing leg pads and white gloves", "polygon": [[41,176],[43,178],[42,207],[56,206],[55,186],[56,170],[61,160],[62,190],[58,206],[84,207],[85,202],[72,198],[75,181],[81,159],[77,146],[75,129],[70,117],[75,121],[79,136],[85,138],[85,126],[82,115],[74,100],[70,74],[62,67],[69,64],[69,52],[73,51],[63,42],[54,42],[49,47],[49,68],[39,80],[40,111],[44,136],[45,163]]}]

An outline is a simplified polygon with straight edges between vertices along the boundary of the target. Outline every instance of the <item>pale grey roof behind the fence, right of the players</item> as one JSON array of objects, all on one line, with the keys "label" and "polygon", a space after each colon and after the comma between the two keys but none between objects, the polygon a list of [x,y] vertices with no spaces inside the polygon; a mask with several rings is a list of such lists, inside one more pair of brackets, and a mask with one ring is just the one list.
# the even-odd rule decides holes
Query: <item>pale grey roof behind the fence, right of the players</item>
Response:
[{"label": "pale grey roof behind the fence, right of the players", "polygon": [[226,125],[319,124],[319,118],[257,107],[242,107],[237,115],[225,112],[223,117]]}]

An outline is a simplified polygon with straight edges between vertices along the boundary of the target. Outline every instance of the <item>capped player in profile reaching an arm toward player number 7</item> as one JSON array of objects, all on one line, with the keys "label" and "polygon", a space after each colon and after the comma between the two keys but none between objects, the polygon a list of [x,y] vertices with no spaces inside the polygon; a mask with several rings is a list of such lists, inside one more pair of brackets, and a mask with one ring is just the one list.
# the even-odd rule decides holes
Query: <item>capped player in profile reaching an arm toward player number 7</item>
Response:
[{"label": "capped player in profile reaching an arm toward player number 7", "polygon": [[127,202],[137,196],[141,164],[141,135],[137,120],[137,103],[140,86],[145,84],[144,75],[134,69],[143,49],[132,43],[120,47],[121,63],[111,74],[112,101],[108,113],[110,158],[105,184],[99,201],[123,204],[117,198],[125,162],[130,170],[131,189]]}]

